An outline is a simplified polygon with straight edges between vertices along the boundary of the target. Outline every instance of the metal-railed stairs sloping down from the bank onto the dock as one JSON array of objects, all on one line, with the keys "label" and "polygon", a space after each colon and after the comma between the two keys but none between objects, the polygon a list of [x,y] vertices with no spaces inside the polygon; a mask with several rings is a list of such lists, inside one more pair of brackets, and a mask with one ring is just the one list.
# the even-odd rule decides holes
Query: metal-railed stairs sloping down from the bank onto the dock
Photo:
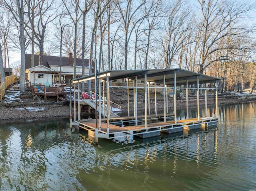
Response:
[{"label": "metal-railed stairs sloping down from the bank onto the dock", "polygon": [[[95,93],[93,93],[91,91],[91,95],[95,95]],[[99,95],[98,95],[99,97]],[[95,96],[90,96],[85,92],[82,92],[82,101],[85,102],[86,104],[88,104],[90,107],[96,109],[96,99]],[[101,106],[101,110],[99,110]],[[100,100],[97,101],[97,110],[98,112],[101,112],[101,114],[105,117],[107,117],[108,115],[108,108],[107,108],[107,103],[106,100],[100,96]],[[110,117],[120,117],[121,114],[121,106],[110,101]]]}]

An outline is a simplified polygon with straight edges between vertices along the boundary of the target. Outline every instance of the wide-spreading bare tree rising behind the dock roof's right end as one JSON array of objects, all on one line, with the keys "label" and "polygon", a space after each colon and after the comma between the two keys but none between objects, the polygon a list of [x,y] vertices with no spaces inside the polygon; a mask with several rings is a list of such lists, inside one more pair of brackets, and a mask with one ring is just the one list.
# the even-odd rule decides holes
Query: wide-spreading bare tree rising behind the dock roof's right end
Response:
[{"label": "wide-spreading bare tree rising behind the dock roof's right end", "polygon": [[198,0],[198,8],[202,19],[198,24],[201,30],[200,42],[200,64],[199,72],[202,73],[213,61],[206,63],[212,53],[220,49],[232,49],[232,47],[215,47],[223,38],[239,38],[241,35],[255,31],[255,28],[247,28],[241,25],[240,21],[246,18],[246,14],[255,5],[245,4],[236,1]]}]

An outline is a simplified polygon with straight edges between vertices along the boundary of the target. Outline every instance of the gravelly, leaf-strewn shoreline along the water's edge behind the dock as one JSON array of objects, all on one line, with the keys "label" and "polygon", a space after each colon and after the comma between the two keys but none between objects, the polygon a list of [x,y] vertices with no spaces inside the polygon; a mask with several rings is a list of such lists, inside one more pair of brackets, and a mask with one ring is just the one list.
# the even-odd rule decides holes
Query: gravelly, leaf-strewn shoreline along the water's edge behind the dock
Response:
[{"label": "gravelly, leaf-strewn shoreline along the water's edge behind the dock", "polygon": [[[255,102],[256,100],[242,100],[238,98],[227,98],[225,96],[218,97],[218,106],[229,104],[241,104]],[[207,100],[208,107],[213,106],[213,100]],[[176,102],[177,109],[186,108],[186,101],[178,100]],[[200,106],[204,106],[204,99],[200,100]],[[123,113],[127,112],[127,102],[120,104]],[[130,110],[133,110],[133,104],[130,104]],[[163,106],[163,102],[158,103],[158,108]],[[197,101],[189,101],[189,108],[196,108]],[[34,109],[38,108],[38,109]],[[138,102],[138,108],[144,110],[144,102]],[[154,103],[150,104],[150,108],[154,108]],[[163,108],[163,107],[162,107]],[[168,102],[168,108],[173,108],[173,102]],[[138,109],[139,111],[140,109]],[[66,118],[70,117],[70,107],[67,102],[21,102],[12,104],[0,104],[0,123],[14,122],[16,120],[40,120],[47,118]]]}]

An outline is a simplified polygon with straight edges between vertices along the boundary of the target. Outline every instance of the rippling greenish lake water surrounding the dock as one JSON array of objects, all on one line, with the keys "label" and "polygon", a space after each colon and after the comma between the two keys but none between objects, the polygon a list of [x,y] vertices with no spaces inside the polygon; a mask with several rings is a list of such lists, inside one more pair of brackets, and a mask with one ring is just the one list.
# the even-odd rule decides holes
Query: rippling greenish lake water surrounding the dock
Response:
[{"label": "rippling greenish lake water surrounding the dock", "polygon": [[[217,127],[151,140],[99,140],[68,119],[0,126],[0,190],[256,189],[256,104],[219,107]],[[128,143],[132,142],[132,143]]]}]

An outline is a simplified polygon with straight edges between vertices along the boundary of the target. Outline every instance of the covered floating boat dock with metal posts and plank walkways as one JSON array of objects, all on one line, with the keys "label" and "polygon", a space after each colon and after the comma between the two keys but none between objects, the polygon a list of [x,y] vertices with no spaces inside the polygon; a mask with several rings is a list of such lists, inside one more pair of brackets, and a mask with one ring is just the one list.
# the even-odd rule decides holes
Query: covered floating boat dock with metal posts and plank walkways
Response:
[{"label": "covered floating boat dock with metal posts and plank walkways", "polygon": [[[133,81],[133,86],[122,86],[127,92],[128,102],[128,116],[120,116],[122,108],[118,104],[110,100],[110,92],[115,86],[110,86],[110,81],[116,79],[126,79],[126,81]],[[80,91],[80,86],[76,84],[84,81],[94,80],[98,85],[95,93],[88,95]],[[194,130],[201,127],[212,126],[218,124],[218,81],[220,79],[210,77],[200,73],[194,73],[183,69],[149,69],[149,70],[129,70],[129,71],[106,71],[88,77],[73,79],[70,83],[77,87],[78,92],[78,108],[74,105],[74,114],[72,115],[72,108],[70,104],[70,126],[76,126],[88,131],[88,136],[94,138],[96,144],[99,138],[114,139],[119,137],[132,137],[140,136],[141,138],[149,138],[153,136],[160,136],[160,133],[176,133],[183,132],[183,130]],[[144,87],[138,87],[137,81],[144,81]],[[213,83],[214,86],[209,86]],[[154,84],[154,87],[152,87]],[[158,108],[156,104],[156,85],[162,85],[163,91],[163,108]],[[195,86],[191,86],[195,85]],[[204,85],[204,87],[203,87]],[[159,89],[159,86],[157,87]],[[138,115],[138,100],[137,90],[143,89],[144,91],[144,115]],[[186,119],[177,120],[177,106],[176,106],[176,93],[177,90],[186,91]],[[189,118],[189,103],[188,103],[188,89],[194,89],[197,94],[197,116],[196,118]],[[172,97],[168,97],[168,91],[173,92]],[[214,92],[214,114],[209,116],[207,113],[207,91]],[[133,115],[130,116],[130,94],[133,93]],[[150,93],[154,92],[155,107],[154,113],[150,113]],[[199,91],[204,91],[205,94],[205,113],[200,116],[199,104]],[[74,95],[76,96],[76,95]],[[71,96],[70,96],[71,97]],[[76,98],[74,98],[75,100]],[[173,108],[168,106],[168,99],[173,99]],[[152,100],[152,98],[151,98]],[[71,100],[70,100],[71,102]],[[96,110],[96,119],[83,120],[80,118],[80,104],[89,104]],[[152,108],[151,108],[152,109]],[[158,111],[164,111],[159,114]],[[78,115],[76,115],[76,111]],[[119,111],[119,113],[117,112]],[[129,112],[130,111],[130,112]],[[76,118],[78,116],[78,118]]]}]

